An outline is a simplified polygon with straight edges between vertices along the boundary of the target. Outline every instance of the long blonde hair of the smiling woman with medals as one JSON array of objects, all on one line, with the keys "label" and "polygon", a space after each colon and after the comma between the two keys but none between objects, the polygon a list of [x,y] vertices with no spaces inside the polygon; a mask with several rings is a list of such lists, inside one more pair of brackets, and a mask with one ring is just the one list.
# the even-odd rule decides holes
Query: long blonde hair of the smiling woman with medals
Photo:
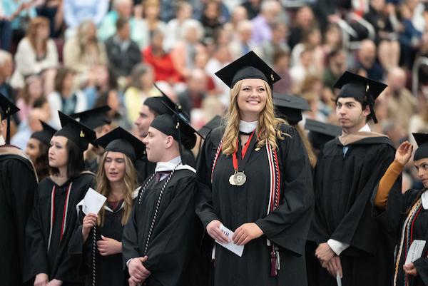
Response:
[{"label": "long blonde hair of the smiling woman with medals", "polygon": [[[223,154],[232,155],[237,150],[238,146],[236,141],[239,134],[239,108],[238,108],[238,94],[240,88],[243,84],[243,80],[235,83],[233,88],[230,91],[230,102],[227,118],[227,125],[225,129],[225,134],[223,136]],[[257,135],[257,146],[261,148],[265,145],[266,140],[270,143],[272,148],[278,148],[277,138],[283,138],[279,127],[282,123],[285,123],[281,118],[275,117],[275,112],[273,108],[272,100],[272,90],[269,85],[264,81],[265,90],[267,93],[266,106],[263,108],[263,111],[260,112],[258,118],[258,126],[255,129]]]}]

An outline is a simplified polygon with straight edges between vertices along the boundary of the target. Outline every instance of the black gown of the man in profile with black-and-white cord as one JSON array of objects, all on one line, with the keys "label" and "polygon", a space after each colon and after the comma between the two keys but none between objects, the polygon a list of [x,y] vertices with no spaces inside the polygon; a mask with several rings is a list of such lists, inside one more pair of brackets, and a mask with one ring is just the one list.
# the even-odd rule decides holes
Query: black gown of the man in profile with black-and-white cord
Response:
[{"label": "black gown of the man in profile with black-and-white cord", "polygon": [[[123,229],[123,263],[143,256],[153,213],[165,180],[156,183],[153,179],[141,196],[141,204],[136,199],[131,218]],[[202,228],[195,214],[197,192],[195,173],[191,170],[175,170],[163,193],[148,245],[148,260],[143,263],[151,271],[146,285],[204,285],[199,255]]]}]

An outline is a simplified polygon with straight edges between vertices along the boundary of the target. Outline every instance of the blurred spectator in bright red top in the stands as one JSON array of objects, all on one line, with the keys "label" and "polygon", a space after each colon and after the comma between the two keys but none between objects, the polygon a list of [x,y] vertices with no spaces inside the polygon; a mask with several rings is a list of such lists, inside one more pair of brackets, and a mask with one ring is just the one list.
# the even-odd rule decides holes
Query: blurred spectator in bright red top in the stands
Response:
[{"label": "blurred spectator in bright red top in the stands", "polygon": [[165,81],[174,86],[175,83],[180,83],[182,78],[175,69],[170,53],[163,49],[163,39],[161,30],[153,31],[151,45],[143,51],[143,60],[153,67],[155,81]]}]

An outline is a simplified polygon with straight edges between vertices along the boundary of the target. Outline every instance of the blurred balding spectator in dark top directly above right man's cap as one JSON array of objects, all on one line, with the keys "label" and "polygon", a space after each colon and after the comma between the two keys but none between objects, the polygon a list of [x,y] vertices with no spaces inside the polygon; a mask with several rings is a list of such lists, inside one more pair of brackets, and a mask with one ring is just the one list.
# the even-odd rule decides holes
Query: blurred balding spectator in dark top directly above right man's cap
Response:
[{"label": "blurred balding spectator in dark top directly above right man's cap", "polygon": [[362,68],[367,77],[373,81],[382,81],[383,69],[376,61],[376,45],[372,40],[366,39],[361,42],[360,50],[357,52],[357,68]]}]

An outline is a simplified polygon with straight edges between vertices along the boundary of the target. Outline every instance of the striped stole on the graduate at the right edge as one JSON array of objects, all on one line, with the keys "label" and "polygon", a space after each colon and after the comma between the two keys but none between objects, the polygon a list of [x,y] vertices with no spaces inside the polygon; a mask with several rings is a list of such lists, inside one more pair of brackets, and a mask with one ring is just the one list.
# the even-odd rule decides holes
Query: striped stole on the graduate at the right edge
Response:
[{"label": "striped stole on the graduate at the right edge", "polygon": [[[406,220],[404,220],[402,235],[399,242],[399,249],[397,253],[397,259],[395,260],[395,271],[394,271],[394,286],[397,286],[397,276],[399,272],[399,262],[404,254],[404,259],[407,256],[409,247],[413,242],[413,225],[414,221],[417,218],[420,210],[422,210],[422,198],[419,198],[416,203],[412,206],[412,209],[409,211]],[[404,252],[404,253],[403,253]],[[404,274],[404,285],[409,285],[408,275]]]}]

